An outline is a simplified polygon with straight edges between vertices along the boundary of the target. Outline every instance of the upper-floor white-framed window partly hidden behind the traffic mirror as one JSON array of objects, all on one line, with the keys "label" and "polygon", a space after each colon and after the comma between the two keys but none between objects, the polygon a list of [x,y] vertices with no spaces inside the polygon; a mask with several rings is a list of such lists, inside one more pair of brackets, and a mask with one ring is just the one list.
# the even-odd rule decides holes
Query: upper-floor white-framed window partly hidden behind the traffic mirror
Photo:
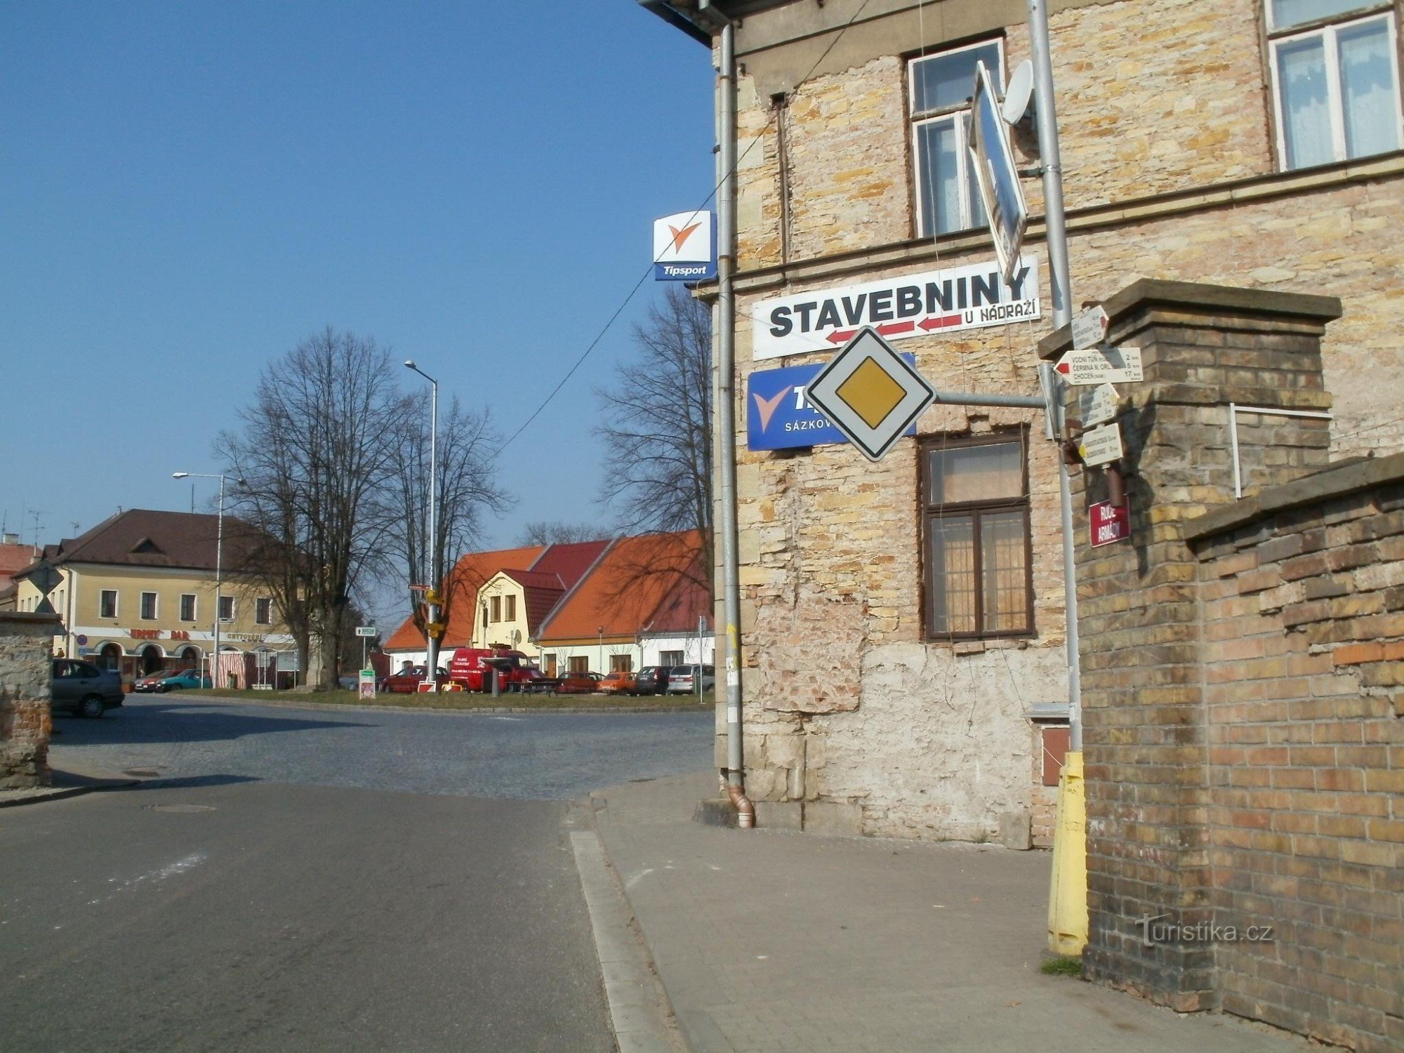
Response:
[{"label": "upper-floor white-framed window partly hidden behind the traffic mirror", "polygon": [[920,237],[986,226],[990,222],[980,204],[980,191],[966,150],[966,118],[970,114],[977,62],[984,63],[995,84],[1004,84],[1000,41],[922,55],[907,67]]}]

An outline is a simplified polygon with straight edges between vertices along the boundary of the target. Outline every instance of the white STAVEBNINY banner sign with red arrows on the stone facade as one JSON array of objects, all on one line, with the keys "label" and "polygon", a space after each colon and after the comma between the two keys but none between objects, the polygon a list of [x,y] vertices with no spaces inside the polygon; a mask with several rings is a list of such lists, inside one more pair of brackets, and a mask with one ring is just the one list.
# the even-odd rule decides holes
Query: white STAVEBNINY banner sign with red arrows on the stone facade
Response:
[{"label": "white STAVEBNINY banner sign with red arrows on the stone facade", "polygon": [[751,358],[833,351],[863,326],[885,340],[1008,326],[1040,314],[1039,263],[1021,257],[1005,281],[998,263],[816,289],[751,307]]}]

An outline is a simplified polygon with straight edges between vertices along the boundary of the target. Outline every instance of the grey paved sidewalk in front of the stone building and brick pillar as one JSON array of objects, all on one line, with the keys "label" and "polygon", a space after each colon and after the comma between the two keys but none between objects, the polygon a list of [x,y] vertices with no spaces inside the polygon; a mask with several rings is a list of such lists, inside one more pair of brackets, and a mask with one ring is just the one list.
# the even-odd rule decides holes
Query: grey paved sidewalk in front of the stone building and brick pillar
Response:
[{"label": "grey paved sidewalk in front of the stone building and brick pillar", "polygon": [[592,795],[696,1053],[1320,1049],[1040,974],[1047,852],[694,823],[716,788],[706,772]]}]

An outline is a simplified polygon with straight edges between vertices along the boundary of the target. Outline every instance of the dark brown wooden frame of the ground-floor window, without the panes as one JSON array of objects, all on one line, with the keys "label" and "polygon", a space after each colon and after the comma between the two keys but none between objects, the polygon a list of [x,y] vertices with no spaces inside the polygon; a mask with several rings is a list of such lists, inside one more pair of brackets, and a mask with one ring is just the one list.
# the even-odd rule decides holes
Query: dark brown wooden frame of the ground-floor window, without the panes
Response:
[{"label": "dark brown wooden frame of the ground-floor window, without the panes", "polygon": [[[931,472],[927,468],[929,463],[929,453],[941,449],[969,449],[974,446],[990,446],[990,445],[1005,445],[1014,444],[1019,445],[1021,452],[1021,496],[1019,497],[1000,497],[983,501],[953,501],[953,503],[939,503],[931,500]],[[955,640],[1001,640],[1001,639],[1031,639],[1038,635],[1033,616],[1033,519],[1032,519],[1032,501],[1029,497],[1029,430],[1028,427],[1021,427],[1016,430],[993,431],[987,435],[934,435],[921,441],[918,446],[918,465],[917,465],[917,501],[920,514],[920,534],[921,534],[921,612],[922,612],[922,636],[929,642],[955,642]],[[983,577],[983,560],[980,550],[980,514],[981,512],[1009,512],[1021,511],[1024,512],[1024,588],[1025,588],[1025,612],[1026,619],[1024,626],[1016,629],[986,629],[984,628],[984,577]],[[934,519],[946,517],[969,517],[972,519],[972,566],[976,571],[976,590],[974,590],[974,622],[976,628],[973,632],[938,632],[934,629],[936,622],[935,616],[935,600],[936,587],[932,580],[932,562],[931,562],[931,524]]]}]

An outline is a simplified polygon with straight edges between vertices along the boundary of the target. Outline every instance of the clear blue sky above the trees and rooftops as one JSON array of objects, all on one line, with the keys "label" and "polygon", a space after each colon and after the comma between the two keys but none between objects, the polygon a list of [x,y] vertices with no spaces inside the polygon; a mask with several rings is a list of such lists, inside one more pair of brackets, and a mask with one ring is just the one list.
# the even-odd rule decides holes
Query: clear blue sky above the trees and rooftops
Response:
[{"label": "clear blue sky above the trees and rooftops", "polygon": [[[511,434],[649,270],[651,220],[710,194],[712,77],[633,0],[6,4],[8,529],[188,510],[171,472],[219,470],[260,371],[327,324]],[[607,521],[592,389],[660,286],[504,452],[490,543]]]}]

